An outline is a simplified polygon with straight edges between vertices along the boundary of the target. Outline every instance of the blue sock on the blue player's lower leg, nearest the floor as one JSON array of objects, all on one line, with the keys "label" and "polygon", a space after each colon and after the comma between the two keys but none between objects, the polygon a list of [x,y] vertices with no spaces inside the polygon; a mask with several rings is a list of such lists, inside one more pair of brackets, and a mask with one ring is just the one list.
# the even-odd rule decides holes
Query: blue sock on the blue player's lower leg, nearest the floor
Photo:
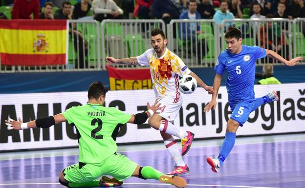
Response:
[{"label": "blue sock on the blue player's lower leg, nearest the floor", "polygon": [[224,141],[222,142],[220,152],[218,155],[220,166],[222,166],[223,161],[225,160],[225,158],[227,158],[227,156],[231,152],[231,150],[235,144],[235,138],[236,138],[235,132],[226,133],[226,137],[224,138]]}]

